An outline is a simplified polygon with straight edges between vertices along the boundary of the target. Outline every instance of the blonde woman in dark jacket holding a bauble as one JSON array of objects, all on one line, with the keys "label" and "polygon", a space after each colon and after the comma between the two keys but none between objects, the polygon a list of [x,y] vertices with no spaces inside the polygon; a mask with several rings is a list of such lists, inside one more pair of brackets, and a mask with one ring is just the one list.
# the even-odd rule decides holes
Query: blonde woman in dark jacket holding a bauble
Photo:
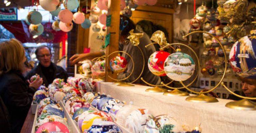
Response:
[{"label": "blonde woman in dark jacket holding a bauble", "polygon": [[33,95],[43,83],[37,77],[27,85],[22,75],[25,61],[25,51],[18,40],[10,39],[0,43],[0,96],[9,113],[12,133],[20,132]]}]

